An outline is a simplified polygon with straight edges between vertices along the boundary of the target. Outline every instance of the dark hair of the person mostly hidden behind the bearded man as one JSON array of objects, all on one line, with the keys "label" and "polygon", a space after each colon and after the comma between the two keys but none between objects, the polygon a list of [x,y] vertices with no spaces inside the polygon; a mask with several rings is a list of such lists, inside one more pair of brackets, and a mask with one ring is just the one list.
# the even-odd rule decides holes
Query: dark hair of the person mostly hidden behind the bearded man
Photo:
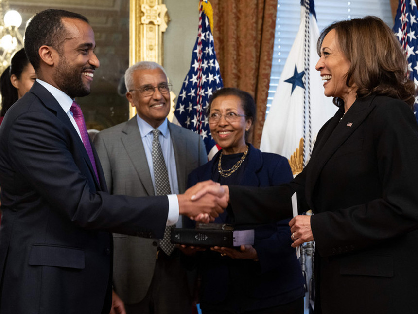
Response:
[{"label": "dark hair of the person mostly hidden behind the bearded man", "polygon": [[26,57],[25,49],[17,51],[10,60],[10,65],[4,70],[0,76],[0,92],[1,92],[1,111],[0,116],[4,116],[6,111],[17,102],[18,94],[17,89],[12,85],[10,77],[16,75],[17,79],[20,79],[23,70],[29,64],[29,60]]}]

